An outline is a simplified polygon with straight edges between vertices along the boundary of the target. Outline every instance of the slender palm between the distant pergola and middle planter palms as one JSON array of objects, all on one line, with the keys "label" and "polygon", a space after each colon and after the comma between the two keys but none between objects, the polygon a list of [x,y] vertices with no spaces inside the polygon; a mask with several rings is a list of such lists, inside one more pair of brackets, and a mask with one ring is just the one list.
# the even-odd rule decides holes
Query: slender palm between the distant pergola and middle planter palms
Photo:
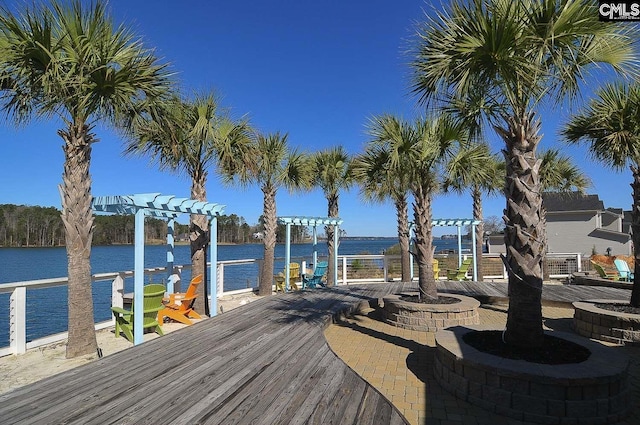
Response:
[{"label": "slender palm between the distant pergola and middle planter palms", "polygon": [[[354,183],[349,154],[342,146],[325,149],[313,155],[312,185],[322,188],[327,199],[328,217],[338,217],[340,190],[346,190]],[[329,267],[327,268],[327,285],[335,284],[333,246],[334,226],[325,228],[327,236],[327,250],[329,251]]]}]

